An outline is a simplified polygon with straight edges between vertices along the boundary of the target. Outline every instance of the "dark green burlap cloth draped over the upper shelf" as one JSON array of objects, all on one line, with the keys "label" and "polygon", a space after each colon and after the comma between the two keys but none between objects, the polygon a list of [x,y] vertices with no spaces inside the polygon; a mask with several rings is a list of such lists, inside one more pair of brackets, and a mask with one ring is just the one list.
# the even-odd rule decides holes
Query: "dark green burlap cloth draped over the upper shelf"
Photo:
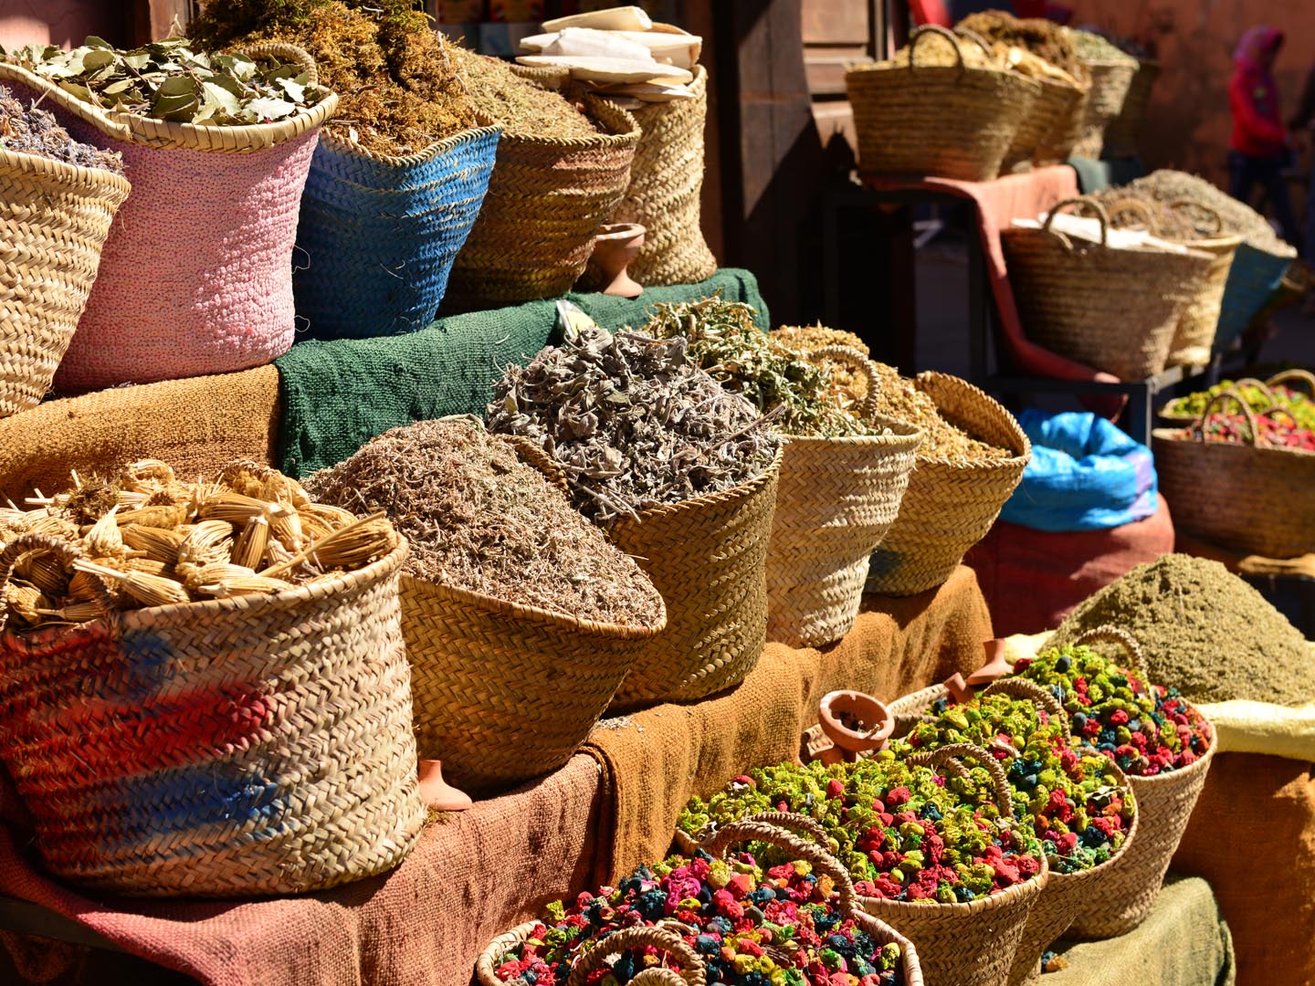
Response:
[{"label": "dark green burlap cloth draped over the upper shelf", "polygon": [[[706,281],[648,288],[638,298],[567,294],[598,325],[639,327],[659,301],[697,301],[717,291],[757,310],[771,327],[757,279],[725,268]],[[341,463],[389,429],[447,414],[476,414],[510,363],[530,362],[556,325],[556,300],[441,318],[408,335],[309,340],[275,360],[279,368],[279,468],[304,476]]]}]

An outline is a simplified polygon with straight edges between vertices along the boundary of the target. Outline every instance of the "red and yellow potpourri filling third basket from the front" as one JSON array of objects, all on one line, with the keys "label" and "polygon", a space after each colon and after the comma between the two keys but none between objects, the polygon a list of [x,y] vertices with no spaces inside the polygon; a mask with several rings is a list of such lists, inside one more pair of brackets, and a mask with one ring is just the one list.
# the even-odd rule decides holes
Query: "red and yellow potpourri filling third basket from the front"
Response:
[{"label": "red and yellow potpourri filling third basket from the front", "polygon": [[[1123,847],[1135,811],[1109,760],[1069,748],[1060,723],[1026,698],[994,694],[959,705],[938,699],[935,722],[914,726],[897,755],[951,743],[972,743],[1001,760],[1014,810],[1031,822],[1051,869],[1080,873],[1099,866]],[[1014,755],[1016,752],[1016,756]]]}]

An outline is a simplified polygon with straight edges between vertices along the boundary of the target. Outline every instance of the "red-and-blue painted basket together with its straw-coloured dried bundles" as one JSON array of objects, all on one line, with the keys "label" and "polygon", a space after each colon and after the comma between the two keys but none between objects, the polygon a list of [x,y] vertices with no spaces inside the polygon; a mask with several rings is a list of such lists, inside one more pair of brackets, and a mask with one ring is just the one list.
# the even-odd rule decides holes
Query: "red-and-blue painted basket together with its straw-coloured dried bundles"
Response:
[{"label": "red-and-blue painted basket together with its straw-coloured dried bundles", "polygon": [[387,519],[249,463],[141,461],[42,502],[3,517],[0,760],[51,873],[246,897],[406,856],[425,810]]}]

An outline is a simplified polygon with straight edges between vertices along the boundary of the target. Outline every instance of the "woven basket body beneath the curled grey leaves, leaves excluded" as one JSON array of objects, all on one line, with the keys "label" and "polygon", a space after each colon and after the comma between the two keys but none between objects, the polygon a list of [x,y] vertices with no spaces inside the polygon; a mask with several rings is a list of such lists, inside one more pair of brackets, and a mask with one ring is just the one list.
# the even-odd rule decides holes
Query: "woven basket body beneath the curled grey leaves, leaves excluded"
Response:
[{"label": "woven basket body beneath the curled grey leaves, leaves excluded", "polygon": [[617,710],[704,698],[744,680],[767,643],[767,548],[782,452],[748,482],[642,510],[608,530],[667,603],[667,628],[643,643]]}]

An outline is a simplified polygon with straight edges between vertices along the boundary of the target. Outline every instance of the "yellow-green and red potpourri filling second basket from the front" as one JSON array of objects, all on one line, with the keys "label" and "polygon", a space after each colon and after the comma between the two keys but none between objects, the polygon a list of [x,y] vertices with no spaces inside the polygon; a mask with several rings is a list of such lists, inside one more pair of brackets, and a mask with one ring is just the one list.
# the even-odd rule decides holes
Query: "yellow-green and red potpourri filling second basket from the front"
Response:
[{"label": "yellow-green and red potpourri filling second basket from the front", "polygon": [[[961,903],[1040,872],[1041,845],[1002,818],[989,774],[944,777],[890,751],[856,764],[755,768],[706,802],[694,797],[677,827],[693,839],[764,811],[819,822],[865,897]],[[751,848],[753,848],[751,845]]]}]

